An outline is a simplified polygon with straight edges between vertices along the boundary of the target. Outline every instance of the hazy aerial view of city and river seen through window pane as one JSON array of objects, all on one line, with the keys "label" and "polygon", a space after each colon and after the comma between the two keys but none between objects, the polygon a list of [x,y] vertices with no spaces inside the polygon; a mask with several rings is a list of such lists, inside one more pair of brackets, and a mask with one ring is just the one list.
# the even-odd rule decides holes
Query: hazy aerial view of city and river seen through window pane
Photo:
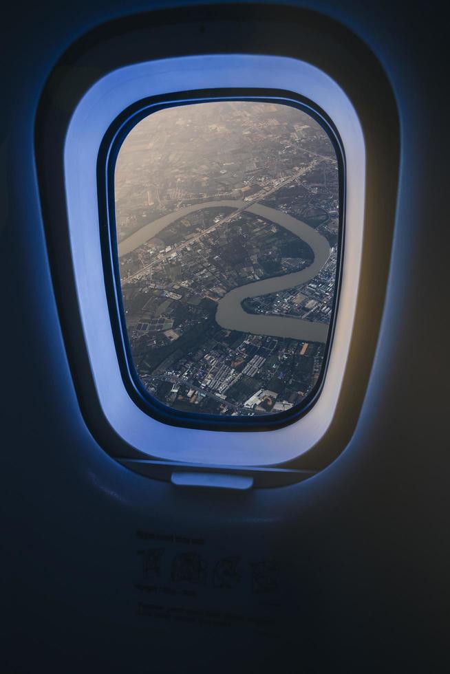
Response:
[{"label": "hazy aerial view of city and river seen through window pane", "polygon": [[156,111],[114,175],[125,321],[145,389],[173,409],[267,415],[324,364],[339,171],[321,125],[251,100]]}]

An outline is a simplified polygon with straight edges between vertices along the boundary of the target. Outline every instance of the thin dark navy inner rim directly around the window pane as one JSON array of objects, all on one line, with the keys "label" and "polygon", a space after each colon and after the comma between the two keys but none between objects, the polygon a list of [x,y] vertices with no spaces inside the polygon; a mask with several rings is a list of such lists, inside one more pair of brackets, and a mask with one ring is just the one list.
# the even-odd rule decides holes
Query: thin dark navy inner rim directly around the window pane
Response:
[{"label": "thin dark navy inner rim directly around the window pane", "polygon": [[[211,415],[201,412],[181,411],[158,400],[145,389],[133,362],[127,327],[125,323],[125,307],[122,300],[120,283],[120,267],[118,259],[118,241],[116,237],[114,175],[116,160],[125,138],[132,129],[147,116],[173,107],[182,107],[193,103],[217,101],[253,101],[271,102],[288,105],[307,113],[318,122],[332,143],[336,153],[339,188],[339,228],[337,246],[336,274],[334,277],[334,297],[332,316],[325,343],[323,362],[319,379],[310,393],[299,404],[289,410],[268,415],[237,416]],[[325,381],[336,316],[339,311],[339,294],[341,289],[341,272],[343,249],[345,242],[345,149],[330,117],[315,105],[314,102],[292,91],[278,89],[200,89],[196,91],[179,91],[162,96],[143,98],[127,107],[110,125],[100,145],[97,160],[98,211],[100,237],[104,266],[105,287],[109,305],[109,316],[116,345],[116,354],[122,374],[122,381],[133,402],[142,411],[164,424],[216,431],[268,431],[292,424],[307,414],[317,402]]]}]

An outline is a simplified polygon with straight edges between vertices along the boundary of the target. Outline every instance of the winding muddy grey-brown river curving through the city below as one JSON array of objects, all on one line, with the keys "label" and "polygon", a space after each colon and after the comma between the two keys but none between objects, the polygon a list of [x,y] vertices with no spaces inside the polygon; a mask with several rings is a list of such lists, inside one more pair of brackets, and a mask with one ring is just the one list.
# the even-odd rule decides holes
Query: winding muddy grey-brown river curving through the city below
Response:
[{"label": "winding muddy grey-brown river curving through the city below", "polygon": [[302,239],[314,252],[314,260],[306,269],[284,276],[271,276],[264,281],[255,281],[227,292],[217,304],[215,319],[217,323],[228,330],[239,330],[242,332],[251,332],[257,335],[268,335],[272,337],[289,337],[292,339],[325,342],[328,335],[328,324],[319,323],[312,320],[302,320],[301,318],[290,318],[289,316],[258,316],[248,314],[242,308],[242,300],[248,297],[266,295],[280,290],[306,283],[318,274],[328,257],[330,257],[330,244],[327,239],[319,234],[312,227],[301,220],[287,215],[281,210],[262,206],[261,204],[247,204],[239,199],[219,202],[204,202],[202,204],[193,204],[177,210],[175,213],[169,213],[164,217],[155,220],[148,225],[144,225],[140,230],[134,232],[118,245],[119,257],[130,253],[142,243],[156,237],[158,232],[169,226],[175,220],[189,215],[196,210],[204,208],[235,208],[236,210],[247,210],[259,217],[275,222],[281,227],[292,232]]}]

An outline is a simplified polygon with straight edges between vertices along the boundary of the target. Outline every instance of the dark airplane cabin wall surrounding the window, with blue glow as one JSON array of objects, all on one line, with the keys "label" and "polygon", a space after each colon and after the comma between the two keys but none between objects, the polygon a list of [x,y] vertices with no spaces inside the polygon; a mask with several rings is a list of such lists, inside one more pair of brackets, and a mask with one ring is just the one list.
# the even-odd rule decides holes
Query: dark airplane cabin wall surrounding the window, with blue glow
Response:
[{"label": "dark airplane cabin wall surrounding the window, with blue glow", "polygon": [[[176,12],[177,3],[10,7],[0,144],[5,672],[447,670],[442,8],[425,1],[291,4],[347,25],[385,67],[400,115],[398,213],[374,369],[350,445],[313,479],[244,494],[150,481],[96,444],[67,365],[39,210],[34,113],[58,57],[100,23],[158,6]],[[160,620],[159,627],[136,616],[138,601],[165,601],[164,590],[156,596],[133,587],[138,550],[151,540],[137,532],[190,539],[152,545],[169,557],[201,548],[211,571],[226,556],[239,556],[246,569],[275,561],[279,595],[261,598],[243,576],[247,585],[235,595],[242,618],[231,626]],[[221,612],[226,602],[219,589],[200,588],[193,607]],[[275,624],[260,635],[248,616]],[[288,664],[293,657],[297,663]]]}]

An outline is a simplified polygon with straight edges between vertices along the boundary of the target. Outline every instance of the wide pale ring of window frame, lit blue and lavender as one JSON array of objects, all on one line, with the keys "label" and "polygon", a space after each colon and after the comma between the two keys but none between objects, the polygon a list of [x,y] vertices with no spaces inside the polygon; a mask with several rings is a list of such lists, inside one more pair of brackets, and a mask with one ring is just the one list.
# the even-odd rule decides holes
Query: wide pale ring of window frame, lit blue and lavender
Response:
[{"label": "wide pale ring of window frame, lit blue and lavender", "polygon": [[[222,429],[163,424],[142,411],[130,397],[120,373],[111,330],[98,226],[98,151],[107,129],[124,108],[142,100],[144,92],[153,97],[180,91],[181,87],[185,91],[199,89],[189,87],[199,81],[219,87],[219,84],[223,86],[236,80],[246,89],[257,81],[264,83],[266,89],[272,89],[282,80],[283,84],[301,89],[302,96],[310,93],[317,106],[324,103],[345,144],[345,177],[351,186],[350,196],[353,196],[352,208],[345,213],[350,235],[343,263],[340,294],[343,302],[336,313],[334,346],[330,350],[323,391],[309,413],[295,424],[265,428],[265,435],[235,430],[231,436]],[[177,83],[181,87],[175,88]],[[292,87],[283,89],[292,91]],[[147,61],[116,69],[85,92],[69,120],[64,144],[69,255],[74,269],[82,340],[87,347],[87,367],[94,376],[91,391],[98,395],[107,424],[118,435],[117,453],[123,455],[126,451],[133,455],[138,450],[152,460],[267,466],[296,459],[313,446],[322,444],[334,419],[352,338],[350,326],[354,328],[363,243],[364,159],[365,143],[352,103],[327,74],[298,59],[260,54],[213,54]],[[85,404],[92,404],[91,400],[86,398]]]}]

